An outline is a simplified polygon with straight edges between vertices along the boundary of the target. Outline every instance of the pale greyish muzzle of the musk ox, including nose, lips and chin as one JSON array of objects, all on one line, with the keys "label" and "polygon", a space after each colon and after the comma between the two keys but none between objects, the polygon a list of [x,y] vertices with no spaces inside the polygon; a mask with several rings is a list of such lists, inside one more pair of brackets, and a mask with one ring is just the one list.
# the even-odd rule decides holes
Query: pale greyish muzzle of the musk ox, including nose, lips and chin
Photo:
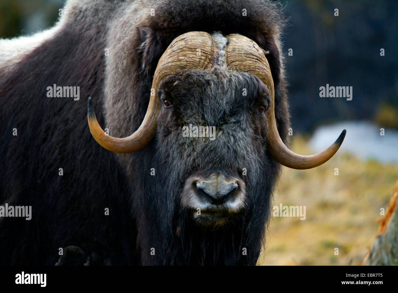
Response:
[{"label": "pale greyish muzzle of the musk ox, including nose, lips and chin", "polygon": [[191,176],[185,181],[181,205],[200,226],[220,226],[230,222],[245,207],[245,183],[236,177],[213,174]]}]

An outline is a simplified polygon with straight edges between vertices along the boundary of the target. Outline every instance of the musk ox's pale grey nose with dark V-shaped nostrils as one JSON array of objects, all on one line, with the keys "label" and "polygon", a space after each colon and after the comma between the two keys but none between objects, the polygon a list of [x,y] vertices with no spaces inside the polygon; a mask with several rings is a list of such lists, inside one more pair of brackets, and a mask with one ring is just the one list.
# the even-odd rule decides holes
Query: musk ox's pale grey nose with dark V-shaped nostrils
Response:
[{"label": "musk ox's pale grey nose with dark V-shaped nostrils", "polygon": [[236,180],[227,180],[224,175],[220,174],[213,174],[206,180],[196,182],[199,195],[205,197],[213,205],[225,203],[238,188]]}]

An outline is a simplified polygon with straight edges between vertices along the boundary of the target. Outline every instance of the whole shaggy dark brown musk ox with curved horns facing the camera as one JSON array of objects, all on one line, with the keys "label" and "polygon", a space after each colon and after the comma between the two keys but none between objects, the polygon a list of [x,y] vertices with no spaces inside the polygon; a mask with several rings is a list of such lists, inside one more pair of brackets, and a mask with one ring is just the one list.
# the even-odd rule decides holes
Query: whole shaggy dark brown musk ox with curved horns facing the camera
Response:
[{"label": "whole shaggy dark brown musk ox with curved horns facing the camera", "polygon": [[317,155],[285,146],[280,8],[69,0],[62,12],[0,41],[0,203],[31,206],[31,220],[0,217],[0,264],[256,264],[281,165],[316,167],[345,134]]}]

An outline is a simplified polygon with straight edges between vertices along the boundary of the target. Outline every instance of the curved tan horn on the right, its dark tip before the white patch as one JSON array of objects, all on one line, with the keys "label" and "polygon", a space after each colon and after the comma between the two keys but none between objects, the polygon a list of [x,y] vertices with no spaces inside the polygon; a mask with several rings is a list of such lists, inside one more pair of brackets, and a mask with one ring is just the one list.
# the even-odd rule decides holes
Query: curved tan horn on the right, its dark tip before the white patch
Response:
[{"label": "curved tan horn on the right, its dark tip before the white patch", "polygon": [[228,45],[224,51],[228,67],[236,71],[245,71],[256,75],[271,94],[271,105],[267,111],[269,132],[267,134],[269,152],[282,165],[293,169],[310,169],[328,161],[339,149],[346,131],[326,150],[316,155],[297,155],[282,142],[275,121],[275,97],[271,70],[261,48],[253,40],[238,34],[227,35]]}]

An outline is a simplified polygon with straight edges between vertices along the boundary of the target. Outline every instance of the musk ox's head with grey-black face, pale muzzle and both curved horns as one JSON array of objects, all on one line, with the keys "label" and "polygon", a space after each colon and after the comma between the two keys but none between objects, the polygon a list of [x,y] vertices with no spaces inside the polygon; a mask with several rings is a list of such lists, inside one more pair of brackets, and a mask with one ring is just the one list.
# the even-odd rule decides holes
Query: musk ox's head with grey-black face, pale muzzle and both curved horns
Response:
[{"label": "musk ox's head with grey-black face, pale muzzle and both curved horns", "polygon": [[259,202],[270,159],[295,169],[313,168],[336,153],[345,135],[311,156],[283,144],[264,53],[243,35],[180,35],[158,62],[139,129],[127,138],[105,134],[89,99],[91,133],[116,153],[139,151],[156,135],[154,157],[164,166],[162,182],[156,184],[173,193],[201,227],[236,222]]}]

